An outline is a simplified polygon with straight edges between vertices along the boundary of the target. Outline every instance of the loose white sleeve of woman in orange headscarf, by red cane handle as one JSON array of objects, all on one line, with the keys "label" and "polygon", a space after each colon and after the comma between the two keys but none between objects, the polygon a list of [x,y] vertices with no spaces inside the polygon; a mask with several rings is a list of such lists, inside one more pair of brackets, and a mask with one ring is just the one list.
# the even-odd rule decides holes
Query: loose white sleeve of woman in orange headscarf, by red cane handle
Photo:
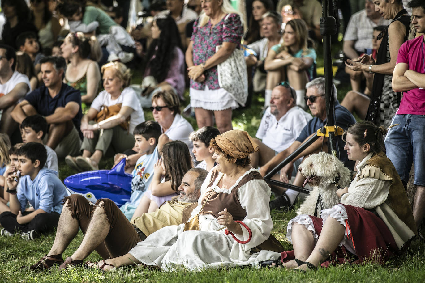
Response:
[{"label": "loose white sleeve of woman in orange headscarf, by red cane handle", "polygon": [[[253,179],[238,189],[239,202],[246,211],[246,217],[243,222],[252,232],[251,241],[241,244],[243,252],[249,252],[251,248],[258,246],[269,238],[270,231],[273,228],[269,207],[270,194],[270,187],[263,179]],[[242,225],[241,229],[244,234],[243,240],[248,240],[248,230]],[[235,236],[238,237],[238,235]],[[235,244],[238,243],[235,241]]]}]

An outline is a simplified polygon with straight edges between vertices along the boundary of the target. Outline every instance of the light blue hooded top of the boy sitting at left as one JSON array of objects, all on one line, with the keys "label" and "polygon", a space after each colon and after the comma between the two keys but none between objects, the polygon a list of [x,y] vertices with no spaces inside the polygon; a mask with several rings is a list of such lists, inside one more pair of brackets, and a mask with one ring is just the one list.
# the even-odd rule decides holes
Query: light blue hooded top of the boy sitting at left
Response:
[{"label": "light blue hooded top of the boy sitting at left", "polygon": [[34,180],[29,175],[22,176],[17,186],[17,198],[21,205],[21,211],[25,210],[29,202],[34,210],[41,208],[47,213],[62,212],[62,201],[69,196],[62,181],[56,176],[56,172],[42,168]]}]

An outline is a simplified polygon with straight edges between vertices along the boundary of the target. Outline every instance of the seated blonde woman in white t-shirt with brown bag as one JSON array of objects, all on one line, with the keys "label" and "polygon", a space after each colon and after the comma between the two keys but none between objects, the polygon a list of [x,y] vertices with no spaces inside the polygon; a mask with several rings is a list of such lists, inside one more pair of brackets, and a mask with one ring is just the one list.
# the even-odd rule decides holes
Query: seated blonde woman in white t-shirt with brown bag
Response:
[{"label": "seated blonde woman in white t-shirt with brown bag", "polygon": [[[136,92],[129,87],[130,70],[120,62],[111,62],[102,66],[102,73],[105,90],[81,119],[82,156],[65,157],[66,164],[78,171],[99,170],[99,161],[110,146],[116,152],[132,148],[134,127],[144,121],[142,107],[134,103]],[[104,115],[99,117],[99,112]]]}]

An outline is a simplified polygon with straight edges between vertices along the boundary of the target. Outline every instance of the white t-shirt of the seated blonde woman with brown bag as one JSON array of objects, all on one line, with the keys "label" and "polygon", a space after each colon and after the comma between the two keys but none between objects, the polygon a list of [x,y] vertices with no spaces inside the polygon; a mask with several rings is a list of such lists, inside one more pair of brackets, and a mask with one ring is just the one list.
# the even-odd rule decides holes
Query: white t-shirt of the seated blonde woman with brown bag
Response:
[{"label": "white t-shirt of the seated blonde woman with brown bag", "polygon": [[128,106],[134,110],[130,114],[129,130],[130,134],[133,134],[134,127],[144,122],[144,112],[142,106],[140,106],[136,92],[131,87],[126,87],[122,90],[121,95],[119,95],[115,100],[112,99],[111,95],[106,90],[103,90],[99,92],[99,95],[97,95],[96,98],[94,98],[90,107],[100,111],[103,105],[112,106],[119,103],[122,103],[121,107]]}]

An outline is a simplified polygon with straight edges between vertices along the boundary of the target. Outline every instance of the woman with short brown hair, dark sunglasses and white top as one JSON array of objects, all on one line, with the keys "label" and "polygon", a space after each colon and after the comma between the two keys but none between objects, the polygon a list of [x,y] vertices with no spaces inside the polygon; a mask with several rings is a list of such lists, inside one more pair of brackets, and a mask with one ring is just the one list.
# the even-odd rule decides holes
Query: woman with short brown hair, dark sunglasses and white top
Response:
[{"label": "woman with short brown hair, dark sunglasses and white top", "polygon": [[181,140],[186,143],[190,152],[193,143],[189,135],[193,127],[180,115],[180,101],[176,95],[167,91],[156,92],[152,96],[153,118],[159,123],[163,134],[167,134],[170,140]]}]

